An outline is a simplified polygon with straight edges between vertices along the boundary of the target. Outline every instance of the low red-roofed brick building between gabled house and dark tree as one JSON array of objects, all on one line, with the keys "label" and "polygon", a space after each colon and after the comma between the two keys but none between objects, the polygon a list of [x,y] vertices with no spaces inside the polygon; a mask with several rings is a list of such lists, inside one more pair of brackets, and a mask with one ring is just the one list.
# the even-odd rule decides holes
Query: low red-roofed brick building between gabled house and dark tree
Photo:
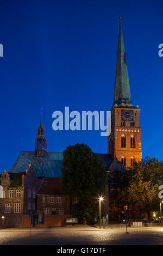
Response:
[{"label": "low red-roofed brick building between gabled house and dark tree", "polygon": [[[37,192],[37,214],[43,216],[39,226],[55,227],[66,224],[66,218],[71,217],[71,197],[61,192],[59,177],[44,178]],[[41,222],[41,221],[40,221]]]}]

